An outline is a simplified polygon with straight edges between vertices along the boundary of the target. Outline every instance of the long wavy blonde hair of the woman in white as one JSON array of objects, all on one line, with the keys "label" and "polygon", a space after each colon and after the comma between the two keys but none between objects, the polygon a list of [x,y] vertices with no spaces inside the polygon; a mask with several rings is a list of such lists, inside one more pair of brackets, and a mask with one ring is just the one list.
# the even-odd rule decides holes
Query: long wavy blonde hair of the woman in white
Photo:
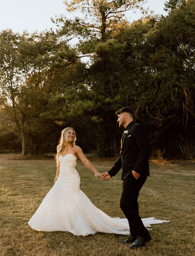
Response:
[{"label": "long wavy blonde hair of the woman in white", "polygon": [[68,145],[68,131],[70,129],[73,130],[74,135],[75,135],[73,141],[71,142],[72,149],[74,151],[73,146],[76,145],[75,141],[77,140],[76,133],[75,133],[75,130],[72,127],[67,127],[67,128],[65,128],[65,129],[63,129],[61,131],[61,136],[59,138],[59,145],[60,145],[60,147],[57,149],[57,154],[56,154],[56,157],[55,157],[57,164],[59,163],[59,159],[58,159],[59,155],[61,155],[63,152],[65,152],[67,149],[69,149],[69,145]]}]

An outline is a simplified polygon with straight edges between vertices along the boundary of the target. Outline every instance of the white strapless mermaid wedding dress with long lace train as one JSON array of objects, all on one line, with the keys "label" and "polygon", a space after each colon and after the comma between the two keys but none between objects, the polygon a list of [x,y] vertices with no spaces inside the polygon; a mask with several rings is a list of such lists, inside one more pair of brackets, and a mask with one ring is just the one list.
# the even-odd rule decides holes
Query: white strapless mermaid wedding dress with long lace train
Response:
[{"label": "white strapless mermaid wedding dress with long lace train", "polygon": [[[129,235],[127,219],[109,217],[80,190],[76,161],[77,157],[71,153],[59,156],[58,180],[28,224],[37,231],[68,231],[74,235],[97,232]],[[145,227],[164,222],[153,217],[142,221]]]}]

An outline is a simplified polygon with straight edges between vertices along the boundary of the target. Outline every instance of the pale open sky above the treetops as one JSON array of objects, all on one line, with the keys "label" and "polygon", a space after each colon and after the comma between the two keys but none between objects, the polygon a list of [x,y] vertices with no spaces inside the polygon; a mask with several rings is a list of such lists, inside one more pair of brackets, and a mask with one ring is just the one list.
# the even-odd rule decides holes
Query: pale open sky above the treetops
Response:
[{"label": "pale open sky above the treetops", "polygon": [[[163,10],[165,0],[147,0],[146,6],[155,14],[166,15]],[[29,33],[55,29],[51,18],[55,15],[67,14],[63,0],[0,0],[0,31],[11,28],[14,32]],[[140,18],[140,13],[133,12],[127,15],[129,21]]]}]

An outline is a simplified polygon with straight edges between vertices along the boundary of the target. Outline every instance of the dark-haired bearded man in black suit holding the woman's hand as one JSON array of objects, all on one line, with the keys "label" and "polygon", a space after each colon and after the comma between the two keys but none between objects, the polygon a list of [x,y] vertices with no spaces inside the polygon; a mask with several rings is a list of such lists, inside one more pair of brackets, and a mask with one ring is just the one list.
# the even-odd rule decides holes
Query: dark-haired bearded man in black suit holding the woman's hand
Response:
[{"label": "dark-haired bearded man in black suit holding the woman's hand", "polygon": [[146,129],[134,121],[133,110],[130,107],[117,110],[116,115],[119,127],[125,128],[121,138],[121,151],[117,162],[110,171],[102,173],[102,178],[109,180],[122,169],[123,190],[120,208],[128,219],[131,235],[126,240],[118,242],[130,243],[130,248],[134,249],[151,240],[139,216],[137,203],[139,191],[150,175],[150,144]]}]

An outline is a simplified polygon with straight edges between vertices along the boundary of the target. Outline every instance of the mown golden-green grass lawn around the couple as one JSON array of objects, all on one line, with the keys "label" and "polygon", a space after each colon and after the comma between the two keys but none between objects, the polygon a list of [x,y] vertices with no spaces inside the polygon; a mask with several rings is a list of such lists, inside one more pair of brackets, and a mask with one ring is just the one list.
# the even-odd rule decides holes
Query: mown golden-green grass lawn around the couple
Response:
[{"label": "mown golden-green grass lawn around the couple", "polygon": [[[6,158],[7,157],[7,158]],[[53,186],[53,160],[11,160],[0,155],[0,255],[41,256],[194,256],[195,255],[195,161],[151,161],[151,175],[139,195],[140,216],[170,220],[153,225],[152,240],[130,250],[117,243],[127,236],[97,233],[75,236],[67,232],[37,232],[27,224]],[[100,171],[114,160],[92,159]],[[108,182],[96,180],[78,161],[81,190],[112,217],[124,215],[119,208],[120,173]]]}]

